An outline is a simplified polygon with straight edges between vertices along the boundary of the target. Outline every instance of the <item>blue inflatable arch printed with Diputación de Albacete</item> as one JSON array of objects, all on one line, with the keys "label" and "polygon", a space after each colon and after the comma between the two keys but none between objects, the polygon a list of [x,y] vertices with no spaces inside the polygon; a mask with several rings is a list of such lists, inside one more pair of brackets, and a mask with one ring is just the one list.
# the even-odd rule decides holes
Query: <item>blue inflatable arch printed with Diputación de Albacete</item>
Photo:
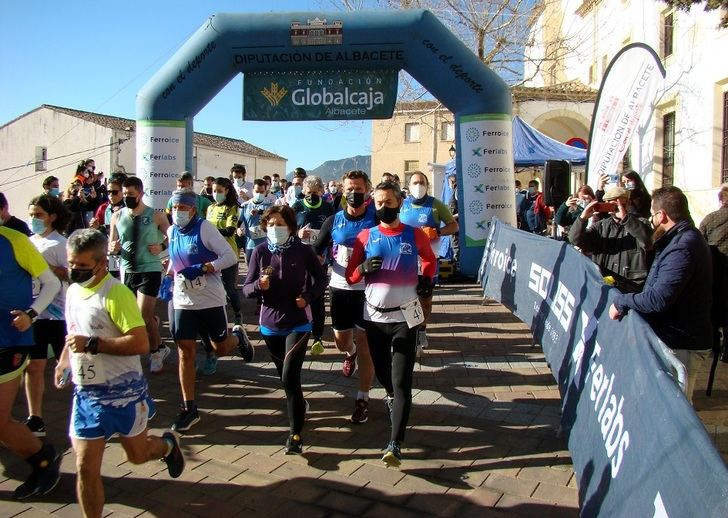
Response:
[{"label": "blue inflatable arch printed with Diputaci\u00f3n de Albacete", "polygon": [[[292,24],[316,19],[340,37],[295,41]],[[175,175],[192,169],[193,118],[235,76],[315,70],[406,70],[455,114],[461,268],[474,275],[490,219],[515,223],[511,96],[429,11],[211,16],[137,95],[146,199],[161,208]]]}]

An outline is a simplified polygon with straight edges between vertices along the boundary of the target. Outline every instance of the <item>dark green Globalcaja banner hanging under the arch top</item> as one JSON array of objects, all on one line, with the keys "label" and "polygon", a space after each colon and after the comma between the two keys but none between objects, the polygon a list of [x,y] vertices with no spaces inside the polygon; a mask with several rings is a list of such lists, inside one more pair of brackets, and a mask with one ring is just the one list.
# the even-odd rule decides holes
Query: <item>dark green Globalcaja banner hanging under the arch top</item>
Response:
[{"label": "dark green Globalcaja banner hanging under the arch top", "polygon": [[397,101],[396,70],[248,73],[246,120],[389,119]]}]

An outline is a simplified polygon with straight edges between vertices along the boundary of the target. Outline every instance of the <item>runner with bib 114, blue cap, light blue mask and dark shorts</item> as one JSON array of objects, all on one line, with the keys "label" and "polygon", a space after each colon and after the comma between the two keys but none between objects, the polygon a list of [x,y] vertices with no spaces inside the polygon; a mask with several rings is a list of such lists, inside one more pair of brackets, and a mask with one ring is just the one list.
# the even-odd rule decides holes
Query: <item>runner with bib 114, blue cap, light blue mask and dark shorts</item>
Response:
[{"label": "runner with bib 114, blue cap, light blue mask and dark shorts", "polygon": [[197,215],[196,194],[177,190],[172,195],[172,222],[168,230],[169,267],[174,277],[174,340],[179,347],[179,382],[182,403],[172,429],[186,432],[200,420],[195,404],[195,354],[197,336],[209,336],[218,357],[236,346],[245,361],[254,350],[242,326],[228,333],[225,288],[220,272],[235,264],[225,238],[209,221]]}]

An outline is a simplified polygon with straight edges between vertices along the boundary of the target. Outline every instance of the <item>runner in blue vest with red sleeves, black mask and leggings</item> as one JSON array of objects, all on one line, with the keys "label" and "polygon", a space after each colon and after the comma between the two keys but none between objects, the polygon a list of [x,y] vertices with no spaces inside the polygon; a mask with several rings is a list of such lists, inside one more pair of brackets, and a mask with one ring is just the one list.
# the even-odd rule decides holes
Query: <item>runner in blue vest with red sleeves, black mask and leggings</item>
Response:
[{"label": "runner in blue vest with red sleeves, black mask and leggings", "polygon": [[[425,233],[399,221],[402,193],[399,186],[380,183],[374,191],[379,226],[363,230],[354,242],[346,280],[364,279],[367,341],[377,379],[387,391],[392,432],[382,461],[399,466],[412,407],[412,371],[416,356],[417,326],[423,315],[418,296],[432,295],[436,259]],[[423,275],[417,275],[417,258]]]}]

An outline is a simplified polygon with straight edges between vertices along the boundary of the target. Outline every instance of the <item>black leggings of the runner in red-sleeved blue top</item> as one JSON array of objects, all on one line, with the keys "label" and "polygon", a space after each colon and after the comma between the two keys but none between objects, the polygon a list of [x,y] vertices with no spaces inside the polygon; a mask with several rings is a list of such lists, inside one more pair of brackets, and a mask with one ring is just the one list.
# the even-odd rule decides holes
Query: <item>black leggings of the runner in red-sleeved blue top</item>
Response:
[{"label": "black leggings of the runner in red-sleeved blue top", "polygon": [[374,372],[387,395],[394,394],[391,441],[402,442],[412,408],[412,371],[417,355],[417,328],[406,322],[366,322]]}]

